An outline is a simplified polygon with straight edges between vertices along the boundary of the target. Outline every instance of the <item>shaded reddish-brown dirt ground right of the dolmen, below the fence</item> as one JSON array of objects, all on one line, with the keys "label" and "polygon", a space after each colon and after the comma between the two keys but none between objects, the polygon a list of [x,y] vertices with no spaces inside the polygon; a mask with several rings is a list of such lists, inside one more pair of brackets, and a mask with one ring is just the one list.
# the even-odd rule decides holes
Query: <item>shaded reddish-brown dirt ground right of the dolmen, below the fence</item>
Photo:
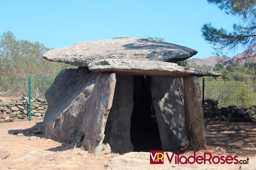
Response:
[{"label": "shaded reddish-brown dirt ground right of the dolmen, below the fence", "polygon": [[227,154],[255,157],[256,122],[205,122],[206,143]]}]

